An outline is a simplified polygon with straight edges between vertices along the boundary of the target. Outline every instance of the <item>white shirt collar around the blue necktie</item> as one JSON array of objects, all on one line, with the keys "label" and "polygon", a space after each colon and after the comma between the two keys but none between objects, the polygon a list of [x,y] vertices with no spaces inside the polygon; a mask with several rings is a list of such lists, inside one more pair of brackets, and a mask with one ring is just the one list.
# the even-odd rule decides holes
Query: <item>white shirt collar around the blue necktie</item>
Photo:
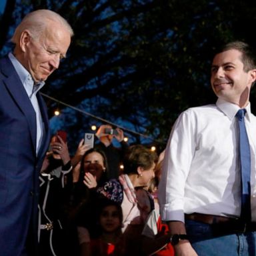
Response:
[{"label": "white shirt collar around the blue necktie", "polygon": [[[237,114],[237,111],[240,109],[239,106],[220,98],[217,99],[216,105],[218,109],[220,109],[225,115],[227,115],[227,117],[229,117],[229,119],[233,119]],[[248,103],[247,106],[243,109],[246,109],[245,118],[250,121],[251,103]]]}]

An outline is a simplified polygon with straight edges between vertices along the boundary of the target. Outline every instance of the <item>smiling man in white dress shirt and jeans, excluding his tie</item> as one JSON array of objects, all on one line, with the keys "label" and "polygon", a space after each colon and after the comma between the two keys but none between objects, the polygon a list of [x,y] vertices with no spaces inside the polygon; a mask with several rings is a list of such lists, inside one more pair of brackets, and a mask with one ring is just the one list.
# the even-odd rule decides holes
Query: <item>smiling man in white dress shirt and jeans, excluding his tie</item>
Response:
[{"label": "smiling man in white dress shirt and jeans, excluding his tie", "polygon": [[[217,103],[187,109],[171,131],[159,185],[161,217],[175,255],[256,255],[256,117],[249,93],[256,59],[246,43],[225,45],[213,58]],[[245,109],[251,154],[251,220],[241,221],[237,111]]]}]

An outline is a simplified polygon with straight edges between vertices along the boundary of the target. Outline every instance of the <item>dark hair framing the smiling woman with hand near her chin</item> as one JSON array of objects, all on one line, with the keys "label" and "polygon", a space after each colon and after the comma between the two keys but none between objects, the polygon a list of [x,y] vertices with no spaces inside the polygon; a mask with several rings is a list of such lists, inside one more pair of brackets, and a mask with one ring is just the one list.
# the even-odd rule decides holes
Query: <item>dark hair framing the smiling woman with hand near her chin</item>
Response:
[{"label": "dark hair framing the smiling woman with hand near her chin", "polygon": [[105,183],[109,179],[109,177],[108,177],[109,171],[108,171],[108,166],[107,166],[107,157],[106,157],[105,153],[103,151],[101,151],[100,149],[93,148],[93,149],[89,149],[88,151],[85,152],[85,154],[83,155],[83,157],[81,159],[79,179],[83,180],[83,176],[85,175],[85,170],[84,170],[85,157],[87,157],[87,155],[89,155],[93,152],[97,152],[103,157],[103,164],[104,164],[104,167],[105,167],[105,171],[102,173],[101,178],[99,179],[98,186],[100,186],[100,185],[103,185],[103,183]]}]

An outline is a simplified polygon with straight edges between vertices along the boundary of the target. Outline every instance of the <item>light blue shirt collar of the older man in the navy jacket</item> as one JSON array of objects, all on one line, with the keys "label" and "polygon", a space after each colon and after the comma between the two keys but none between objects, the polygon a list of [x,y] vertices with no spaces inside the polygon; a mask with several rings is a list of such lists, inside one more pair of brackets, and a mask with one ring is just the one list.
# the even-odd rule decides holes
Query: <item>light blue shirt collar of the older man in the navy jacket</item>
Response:
[{"label": "light blue shirt collar of the older man in the navy jacket", "polygon": [[21,65],[21,63],[17,60],[13,53],[9,53],[8,57],[11,60],[11,63],[13,63],[13,66],[17,74],[19,75],[19,78],[21,79],[21,83],[25,87],[25,90],[27,91],[29,97],[31,97],[33,93],[37,93],[37,91],[39,91],[43,87],[43,85],[45,85],[44,81],[35,83],[29,71],[27,71],[27,69],[25,69],[25,67]]}]

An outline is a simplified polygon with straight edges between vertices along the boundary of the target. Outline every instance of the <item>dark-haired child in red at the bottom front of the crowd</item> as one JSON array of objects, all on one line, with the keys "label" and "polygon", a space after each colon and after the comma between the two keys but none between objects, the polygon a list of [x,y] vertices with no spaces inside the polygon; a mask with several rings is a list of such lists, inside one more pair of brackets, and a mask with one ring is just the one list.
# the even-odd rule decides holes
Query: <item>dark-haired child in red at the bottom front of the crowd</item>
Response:
[{"label": "dark-haired child in red at the bottom front of the crowd", "polygon": [[121,205],[104,199],[98,212],[96,232],[89,233],[79,227],[81,256],[122,256],[125,255],[125,243],[121,233],[123,213]]}]

